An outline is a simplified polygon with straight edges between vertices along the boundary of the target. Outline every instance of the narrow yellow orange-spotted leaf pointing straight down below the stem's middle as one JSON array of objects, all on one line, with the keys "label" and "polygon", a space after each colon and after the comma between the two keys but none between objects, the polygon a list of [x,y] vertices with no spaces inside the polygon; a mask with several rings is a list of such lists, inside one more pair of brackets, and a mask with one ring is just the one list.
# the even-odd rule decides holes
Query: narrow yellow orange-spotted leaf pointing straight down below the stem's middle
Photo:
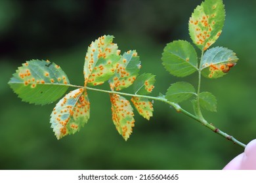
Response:
[{"label": "narrow yellow orange-spotted leaf pointing straight down below the stem's middle", "polygon": [[117,94],[110,94],[110,101],[114,125],[116,125],[118,133],[127,141],[135,123],[133,108],[127,99]]}]

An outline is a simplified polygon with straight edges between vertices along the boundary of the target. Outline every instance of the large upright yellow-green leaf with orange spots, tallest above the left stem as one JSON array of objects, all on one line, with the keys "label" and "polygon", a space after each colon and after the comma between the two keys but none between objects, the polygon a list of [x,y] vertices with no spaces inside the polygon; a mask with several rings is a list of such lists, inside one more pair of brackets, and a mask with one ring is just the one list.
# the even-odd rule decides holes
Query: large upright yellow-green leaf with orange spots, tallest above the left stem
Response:
[{"label": "large upright yellow-green leaf with orange spots, tallest above the left stem", "polygon": [[114,75],[120,50],[112,43],[113,39],[113,36],[104,35],[88,47],[83,67],[85,86],[103,84]]}]

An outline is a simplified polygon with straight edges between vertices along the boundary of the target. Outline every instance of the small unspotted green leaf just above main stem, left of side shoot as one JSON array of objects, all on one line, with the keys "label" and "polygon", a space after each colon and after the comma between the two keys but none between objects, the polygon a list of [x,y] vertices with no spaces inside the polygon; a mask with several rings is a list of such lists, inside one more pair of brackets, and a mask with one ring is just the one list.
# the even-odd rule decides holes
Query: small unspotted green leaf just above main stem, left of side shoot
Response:
[{"label": "small unspotted green leaf just above main stem, left of side shoot", "polygon": [[176,82],[168,88],[165,98],[173,103],[180,103],[196,95],[196,90],[188,82]]}]

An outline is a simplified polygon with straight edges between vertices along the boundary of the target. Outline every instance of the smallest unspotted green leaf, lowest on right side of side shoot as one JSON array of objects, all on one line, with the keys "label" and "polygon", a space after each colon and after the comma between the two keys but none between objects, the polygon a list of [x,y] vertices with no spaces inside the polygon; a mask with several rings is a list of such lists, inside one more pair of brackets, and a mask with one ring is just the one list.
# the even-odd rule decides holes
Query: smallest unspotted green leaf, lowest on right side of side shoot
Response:
[{"label": "smallest unspotted green leaf, lowest on right side of side shoot", "polygon": [[209,92],[202,92],[199,95],[200,106],[206,110],[217,112],[217,99]]}]

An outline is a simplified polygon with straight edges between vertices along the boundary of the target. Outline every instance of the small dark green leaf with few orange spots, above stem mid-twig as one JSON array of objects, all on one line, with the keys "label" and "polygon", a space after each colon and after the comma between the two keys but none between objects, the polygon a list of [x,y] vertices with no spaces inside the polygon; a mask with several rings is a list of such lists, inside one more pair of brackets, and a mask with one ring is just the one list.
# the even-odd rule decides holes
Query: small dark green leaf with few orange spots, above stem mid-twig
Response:
[{"label": "small dark green leaf with few orange spots, above stem mid-twig", "polygon": [[150,73],[144,73],[138,76],[133,84],[135,94],[147,95],[148,93],[151,93],[154,89],[155,82],[155,75]]}]

